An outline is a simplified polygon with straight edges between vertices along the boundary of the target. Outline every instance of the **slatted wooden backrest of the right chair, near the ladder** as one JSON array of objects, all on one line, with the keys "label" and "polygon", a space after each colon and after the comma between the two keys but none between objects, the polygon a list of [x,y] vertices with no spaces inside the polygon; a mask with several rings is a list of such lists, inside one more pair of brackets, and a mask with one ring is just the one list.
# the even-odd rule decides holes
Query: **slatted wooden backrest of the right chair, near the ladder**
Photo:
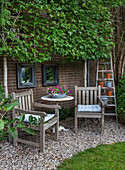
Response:
[{"label": "slatted wooden backrest of the right chair, near the ladder", "polygon": [[75,86],[75,105],[98,104],[98,97],[101,97],[101,87],[77,87]]}]

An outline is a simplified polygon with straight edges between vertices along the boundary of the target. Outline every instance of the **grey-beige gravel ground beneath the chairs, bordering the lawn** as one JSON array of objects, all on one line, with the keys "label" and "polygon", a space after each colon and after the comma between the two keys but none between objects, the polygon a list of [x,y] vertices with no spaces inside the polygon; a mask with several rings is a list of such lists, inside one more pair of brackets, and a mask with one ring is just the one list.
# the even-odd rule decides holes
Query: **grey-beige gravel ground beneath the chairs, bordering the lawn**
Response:
[{"label": "grey-beige gravel ground beneath the chairs, bordering the lawn", "polygon": [[[60,124],[67,128],[67,131],[60,132],[59,141],[53,140],[54,135],[47,134],[44,154],[31,146],[19,144],[18,147],[14,147],[7,141],[1,143],[0,170],[56,169],[62,161],[71,158],[79,151],[96,147],[100,143],[112,144],[125,141],[125,126],[117,125],[115,117],[106,117],[102,139],[97,119],[79,120],[77,139],[74,134],[74,118],[67,118]],[[33,139],[34,136],[28,138]],[[38,136],[35,136],[34,139],[37,138]]]}]

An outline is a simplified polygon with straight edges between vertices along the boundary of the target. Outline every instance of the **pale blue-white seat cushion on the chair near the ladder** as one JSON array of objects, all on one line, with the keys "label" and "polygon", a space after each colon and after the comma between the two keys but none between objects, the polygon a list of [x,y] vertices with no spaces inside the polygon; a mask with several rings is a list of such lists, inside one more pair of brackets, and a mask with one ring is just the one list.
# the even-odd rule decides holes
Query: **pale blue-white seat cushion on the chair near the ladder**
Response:
[{"label": "pale blue-white seat cushion on the chair near the ladder", "polygon": [[101,112],[99,105],[78,105],[78,112]]}]

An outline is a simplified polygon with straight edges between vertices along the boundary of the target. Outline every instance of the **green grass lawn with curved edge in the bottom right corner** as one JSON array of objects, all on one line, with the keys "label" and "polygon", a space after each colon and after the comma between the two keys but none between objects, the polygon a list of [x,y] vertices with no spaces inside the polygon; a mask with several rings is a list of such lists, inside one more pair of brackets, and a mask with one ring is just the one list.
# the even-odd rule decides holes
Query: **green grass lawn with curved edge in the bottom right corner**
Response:
[{"label": "green grass lawn with curved edge in the bottom right corner", "polygon": [[111,145],[101,144],[79,152],[71,159],[66,159],[57,168],[58,170],[87,170],[87,169],[125,169],[125,142]]}]

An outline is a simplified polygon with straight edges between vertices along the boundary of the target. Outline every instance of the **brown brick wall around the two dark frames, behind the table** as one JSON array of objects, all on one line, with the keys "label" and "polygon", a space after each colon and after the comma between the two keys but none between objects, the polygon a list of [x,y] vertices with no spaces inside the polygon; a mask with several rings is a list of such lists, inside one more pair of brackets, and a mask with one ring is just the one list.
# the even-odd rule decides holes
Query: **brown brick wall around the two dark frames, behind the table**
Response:
[{"label": "brown brick wall around the two dark frames, behind the table", "polygon": [[[17,60],[12,60],[11,58],[7,59],[8,66],[8,91],[11,93],[25,91],[26,89],[17,88],[17,79],[16,79],[16,63]],[[47,62],[46,62],[47,63]],[[58,57],[55,57],[48,64],[59,64],[59,85],[67,86],[74,96],[75,85],[83,86],[83,62],[78,61],[75,63],[65,63],[63,64]],[[41,96],[47,95],[47,88],[42,86],[42,66],[41,64],[36,64],[36,88],[33,88],[34,99],[36,102],[42,102]],[[0,57],[0,84],[3,85],[3,60]],[[50,104],[50,103],[49,103]],[[51,103],[52,104],[52,103]],[[62,102],[59,103],[61,106],[70,107],[74,106],[74,101]]]}]

